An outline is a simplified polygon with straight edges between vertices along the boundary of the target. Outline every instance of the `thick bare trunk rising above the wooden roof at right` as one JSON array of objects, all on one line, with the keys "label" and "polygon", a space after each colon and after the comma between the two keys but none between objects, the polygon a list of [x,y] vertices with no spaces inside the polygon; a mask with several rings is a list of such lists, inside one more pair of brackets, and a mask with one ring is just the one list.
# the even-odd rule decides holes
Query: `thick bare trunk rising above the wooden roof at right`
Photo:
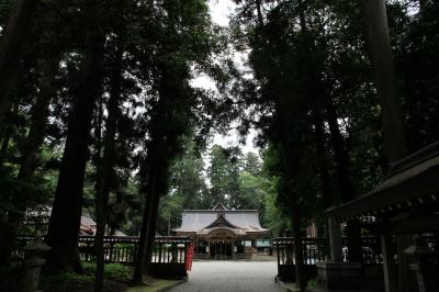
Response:
[{"label": "thick bare trunk rising above the wooden roof at right", "polygon": [[407,155],[404,120],[396,97],[396,78],[389,36],[385,0],[361,0],[369,54],[382,108],[384,146],[389,162]]}]

